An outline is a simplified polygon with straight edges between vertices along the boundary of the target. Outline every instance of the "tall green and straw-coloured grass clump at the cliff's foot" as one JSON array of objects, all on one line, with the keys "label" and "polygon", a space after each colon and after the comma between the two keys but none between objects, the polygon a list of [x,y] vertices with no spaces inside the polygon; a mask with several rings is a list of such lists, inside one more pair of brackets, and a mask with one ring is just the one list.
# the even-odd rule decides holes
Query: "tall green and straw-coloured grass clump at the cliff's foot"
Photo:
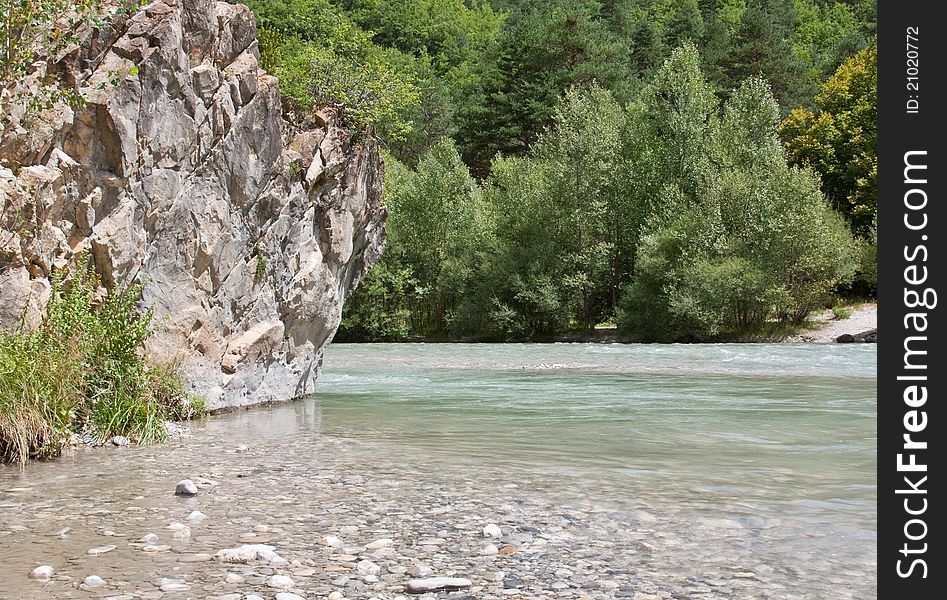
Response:
[{"label": "tall green and straw-coloured grass clump at the cliff's foot", "polygon": [[141,289],[96,290],[89,268],[54,275],[40,326],[0,333],[0,461],[57,456],[73,433],[160,441],[166,420],[203,412],[172,366],[147,360],[153,313],[138,310]]}]

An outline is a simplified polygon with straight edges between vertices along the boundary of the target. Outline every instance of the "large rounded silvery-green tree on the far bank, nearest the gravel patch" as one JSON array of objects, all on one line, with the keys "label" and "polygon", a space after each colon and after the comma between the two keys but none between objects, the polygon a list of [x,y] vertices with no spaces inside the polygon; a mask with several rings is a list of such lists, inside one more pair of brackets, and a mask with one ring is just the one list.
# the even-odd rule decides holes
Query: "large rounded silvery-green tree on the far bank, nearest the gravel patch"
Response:
[{"label": "large rounded silvery-green tree on the far bank, nearest the gravel patch", "polygon": [[[673,64],[672,57],[664,69]],[[692,59],[683,64],[693,68]],[[693,86],[677,89],[661,97],[689,105]],[[708,122],[702,114],[693,113],[695,126]],[[647,109],[636,116],[647,123],[656,118]],[[766,82],[744,82],[720,119],[719,128],[698,127],[707,135],[699,168],[661,171],[676,175],[659,196],[670,209],[652,213],[638,247],[619,314],[627,334],[713,339],[759,329],[769,319],[798,323],[852,278],[848,229],[826,206],[817,178],[787,166],[778,106]],[[665,139],[665,146],[688,147],[676,136]]]}]

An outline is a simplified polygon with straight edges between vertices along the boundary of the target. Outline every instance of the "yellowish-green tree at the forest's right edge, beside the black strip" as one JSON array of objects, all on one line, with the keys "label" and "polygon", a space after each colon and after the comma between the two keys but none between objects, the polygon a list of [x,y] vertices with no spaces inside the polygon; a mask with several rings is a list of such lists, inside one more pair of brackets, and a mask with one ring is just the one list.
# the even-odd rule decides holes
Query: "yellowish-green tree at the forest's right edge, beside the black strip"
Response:
[{"label": "yellowish-green tree at the forest's right edge, beside the black strip", "polygon": [[862,238],[878,204],[877,61],[876,45],[845,61],[816,97],[819,110],[795,110],[780,129],[790,161],[819,174],[832,206]]}]

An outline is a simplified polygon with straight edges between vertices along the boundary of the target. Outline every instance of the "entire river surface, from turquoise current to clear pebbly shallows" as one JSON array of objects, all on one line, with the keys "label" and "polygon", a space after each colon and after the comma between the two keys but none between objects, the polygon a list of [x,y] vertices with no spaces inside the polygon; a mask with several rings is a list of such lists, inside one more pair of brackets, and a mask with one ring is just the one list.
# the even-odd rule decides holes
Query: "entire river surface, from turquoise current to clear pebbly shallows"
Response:
[{"label": "entire river surface, from turquoise current to clear pebbly shallows", "polygon": [[[478,598],[874,598],[875,351],[333,345],[314,398],[0,470],[0,598],[272,598],[277,572],[304,597],[392,598],[422,563]],[[196,475],[218,485],[172,495]],[[489,523],[510,554],[483,555]],[[148,532],[169,548],[130,544]],[[394,550],[369,556],[378,538]],[[187,562],[259,542],[300,564]],[[39,564],[53,581],[27,579]],[[89,574],[107,585],[76,587]]]}]

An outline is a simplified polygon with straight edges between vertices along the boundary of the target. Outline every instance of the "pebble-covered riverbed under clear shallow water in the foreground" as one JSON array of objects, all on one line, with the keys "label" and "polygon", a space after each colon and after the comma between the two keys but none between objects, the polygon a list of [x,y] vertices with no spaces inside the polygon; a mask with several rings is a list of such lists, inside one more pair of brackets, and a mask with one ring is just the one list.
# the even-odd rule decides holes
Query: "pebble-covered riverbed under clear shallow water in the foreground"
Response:
[{"label": "pebble-covered riverbed under clear shallow water in the foreground", "polygon": [[[491,381],[496,394],[501,380]],[[418,445],[392,437],[394,413],[379,420],[355,397],[326,402],[218,416],[166,445],[79,447],[25,472],[0,468],[0,598],[874,597],[870,490],[787,462],[795,454],[721,459],[737,469],[722,484],[723,472],[646,468],[674,452],[659,442],[631,458],[615,446],[594,462],[527,460],[507,446],[565,451],[490,421],[451,452],[471,423],[459,408],[449,424],[428,417],[411,434],[424,436]],[[196,495],[175,495],[184,479]]]}]

